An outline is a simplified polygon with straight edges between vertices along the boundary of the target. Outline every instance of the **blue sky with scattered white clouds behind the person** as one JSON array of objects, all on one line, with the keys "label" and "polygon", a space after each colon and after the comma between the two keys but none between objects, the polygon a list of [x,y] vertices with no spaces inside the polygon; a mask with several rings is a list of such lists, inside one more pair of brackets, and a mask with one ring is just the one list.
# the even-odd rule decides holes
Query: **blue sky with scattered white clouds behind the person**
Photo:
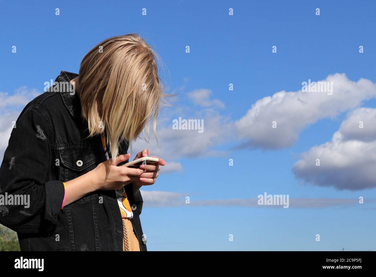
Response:
[{"label": "blue sky with scattered white clouds behind the person", "polygon": [[[87,3],[0,2],[3,136],[45,81],[78,72],[105,38],[139,33],[179,93],[160,115],[160,148],[148,146],[173,165],[143,188],[149,250],[376,250],[374,2]],[[302,93],[309,79],[334,94]],[[172,130],[179,117],[203,119],[204,132]],[[254,206],[264,192],[288,194],[290,207]]]}]

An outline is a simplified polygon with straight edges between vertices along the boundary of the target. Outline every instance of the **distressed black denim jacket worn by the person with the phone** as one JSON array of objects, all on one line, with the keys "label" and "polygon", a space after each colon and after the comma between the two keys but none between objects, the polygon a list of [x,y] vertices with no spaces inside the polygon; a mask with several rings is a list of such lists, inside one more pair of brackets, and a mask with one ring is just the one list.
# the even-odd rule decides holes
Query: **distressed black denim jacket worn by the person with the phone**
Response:
[{"label": "distressed black denim jacket worn by the person with the phone", "polygon": [[[77,76],[62,71],[55,82]],[[95,191],[61,209],[62,182],[106,161],[100,136],[86,138],[79,96],[71,94],[54,85],[27,104],[17,119],[0,168],[0,194],[30,195],[30,207],[0,204],[0,223],[17,231],[21,251],[123,251],[123,222],[114,190]],[[124,141],[119,155],[127,150]],[[139,219],[141,193],[133,195],[132,184],[125,188],[133,210],[130,221],[141,251],[146,251]]]}]

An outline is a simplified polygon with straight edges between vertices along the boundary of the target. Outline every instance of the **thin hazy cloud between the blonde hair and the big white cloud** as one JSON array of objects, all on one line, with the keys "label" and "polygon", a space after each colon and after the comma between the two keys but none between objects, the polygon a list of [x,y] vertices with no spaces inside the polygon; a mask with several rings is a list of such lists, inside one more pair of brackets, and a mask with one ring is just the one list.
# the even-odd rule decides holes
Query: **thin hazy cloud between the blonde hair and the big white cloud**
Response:
[{"label": "thin hazy cloud between the blonde hair and the big white cloud", "polygon": [[[180,163],[175,162],[180,158],[200,158],[209,156],[220,156],[225,153],[214,150],[214,147],[226,143],[233,138],[233,122],[218,113],[218,108],[224,104],[218,99],[211,99],[210,89],[196,89],[188,92],[188,99],[204,109],[195,109],[194,106],[176,107],[168,110],[168,116],[158,118],[157,136],[158,143],[154,136],[150,136],[150,142],[138,139],[132,145],[135,152],[144,148],[150,150],[150,155],[168,159],[165,172],[182,170]],[[164,113],[166,115],[166,113]],[[173,128],[173,120],[197,119],[202,122],[200,130],[180,130]],[[132,153],[133,154],[133,153]]]}]

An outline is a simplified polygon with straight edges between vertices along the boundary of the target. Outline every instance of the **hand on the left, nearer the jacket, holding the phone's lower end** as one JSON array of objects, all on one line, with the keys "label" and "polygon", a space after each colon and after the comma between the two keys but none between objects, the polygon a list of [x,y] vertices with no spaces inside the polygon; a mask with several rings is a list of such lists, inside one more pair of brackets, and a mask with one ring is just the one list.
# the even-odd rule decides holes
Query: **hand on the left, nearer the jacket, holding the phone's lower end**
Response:
[{"label": "hand on the left, nearer the jacket, holding the phone's lower end", "polygon": [[97,190],[120,190],[125,185],[139,180],[144,170],[117,166],[120,162],[129,159],[130,154],[120,155],[114,164],[112,158],[100,163],[94,170],[90,171],[92,180]]}]

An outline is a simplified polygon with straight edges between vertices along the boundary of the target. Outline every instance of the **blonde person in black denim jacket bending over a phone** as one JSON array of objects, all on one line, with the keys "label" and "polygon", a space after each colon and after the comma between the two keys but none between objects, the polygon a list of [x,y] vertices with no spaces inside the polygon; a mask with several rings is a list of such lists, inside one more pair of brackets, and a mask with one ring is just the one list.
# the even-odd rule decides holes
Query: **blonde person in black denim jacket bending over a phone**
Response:
[{"label": "blonde person in black denim jacket bending over a phone", "polygon": [[129,34],[99,43],[78,75],[62,71],[27,104],[0,168],[0,193],[15,200],[0,206],[0,223],[21,251],[146,251],[139,188],[165,162],[122,165],[152,120],[155,133],[164,97],[153,50]]}]

